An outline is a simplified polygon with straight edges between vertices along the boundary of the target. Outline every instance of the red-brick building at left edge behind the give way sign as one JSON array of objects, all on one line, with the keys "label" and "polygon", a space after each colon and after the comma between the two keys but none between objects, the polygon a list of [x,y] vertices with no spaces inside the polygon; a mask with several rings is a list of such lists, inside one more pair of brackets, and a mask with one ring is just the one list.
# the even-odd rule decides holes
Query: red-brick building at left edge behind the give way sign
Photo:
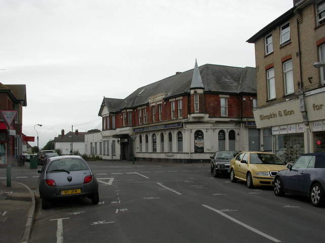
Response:
[{"label": "red-brick building at left edge behind the give way sign", "polygon": [[27,106],[25,85],[3,85],[0,83],[0,110],[17,111],[8,127],[0,115],[0,165],[11,162],[15,155],[22,154],[22,107]]}]

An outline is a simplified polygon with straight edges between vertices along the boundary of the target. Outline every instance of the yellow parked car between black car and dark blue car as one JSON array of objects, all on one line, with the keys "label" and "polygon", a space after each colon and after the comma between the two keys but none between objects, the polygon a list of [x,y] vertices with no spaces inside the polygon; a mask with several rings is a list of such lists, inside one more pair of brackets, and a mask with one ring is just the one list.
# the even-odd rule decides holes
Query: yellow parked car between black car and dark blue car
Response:
[{"label": "yellow parked car between black car and dark blue car", "polygon": [[248,188],[272,186],[275,175],[285,169],[283,161],[274,153],[241,152],[231,160],[230,180],[246,181]]}]

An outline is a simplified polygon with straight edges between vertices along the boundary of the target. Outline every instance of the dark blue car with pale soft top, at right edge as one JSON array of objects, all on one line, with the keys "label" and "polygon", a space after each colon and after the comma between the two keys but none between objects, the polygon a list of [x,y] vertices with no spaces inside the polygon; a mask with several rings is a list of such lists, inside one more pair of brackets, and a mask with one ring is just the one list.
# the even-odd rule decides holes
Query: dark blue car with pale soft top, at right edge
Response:
[{"label": "dark blue car with pale soft top, at right edge", "polygon": [[309,196],[313,206],[325,205],[325,153],[301,155],[288,170],[280,171],[274,178],[274,194]]}]

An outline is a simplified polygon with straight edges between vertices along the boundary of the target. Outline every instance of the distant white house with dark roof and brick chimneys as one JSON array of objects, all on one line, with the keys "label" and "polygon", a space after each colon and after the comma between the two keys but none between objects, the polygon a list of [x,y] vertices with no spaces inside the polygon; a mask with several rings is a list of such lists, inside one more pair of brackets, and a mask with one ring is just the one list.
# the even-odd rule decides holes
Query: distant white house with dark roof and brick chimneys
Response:
[{"label": "distant white house with dark roof and brick chimneys", "polygon": [[61,130],[61,135],[54,138],[54,149],[60,149],[62,154],[79,153],[80,155],[85,153],[85,135],[87,133],[79,132],[78,130],[64,133],[64,129]]}]

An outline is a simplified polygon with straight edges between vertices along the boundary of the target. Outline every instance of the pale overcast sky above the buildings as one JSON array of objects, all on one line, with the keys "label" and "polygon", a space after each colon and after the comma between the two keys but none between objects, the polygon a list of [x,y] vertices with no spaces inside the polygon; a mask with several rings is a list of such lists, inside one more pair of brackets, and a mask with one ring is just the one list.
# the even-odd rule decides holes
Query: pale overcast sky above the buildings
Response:
[{"label": "pale overcast sky above the buildings", "polygon": [[[101,129],[104,97],[194,68],[255,67],[247,39],[293,0],[0,0],[0,83],[25,84],[23,133],[40,149]],[[41,124],[42,127],[36,126]]]}]

